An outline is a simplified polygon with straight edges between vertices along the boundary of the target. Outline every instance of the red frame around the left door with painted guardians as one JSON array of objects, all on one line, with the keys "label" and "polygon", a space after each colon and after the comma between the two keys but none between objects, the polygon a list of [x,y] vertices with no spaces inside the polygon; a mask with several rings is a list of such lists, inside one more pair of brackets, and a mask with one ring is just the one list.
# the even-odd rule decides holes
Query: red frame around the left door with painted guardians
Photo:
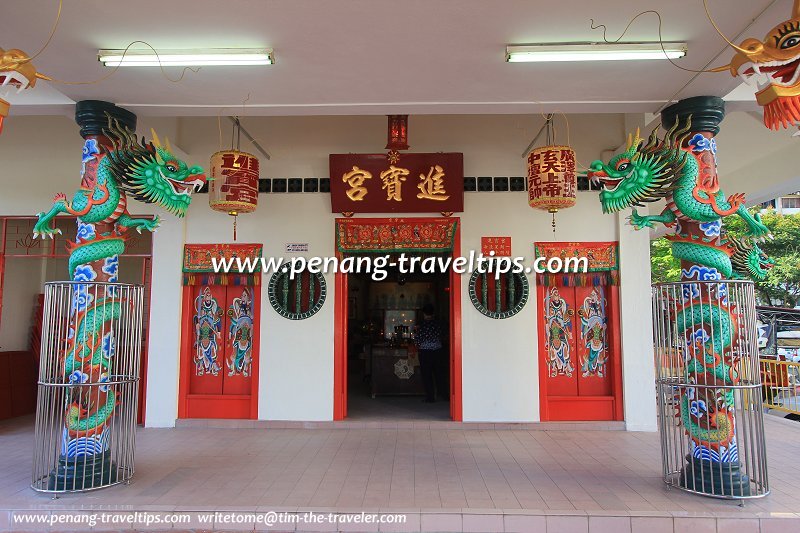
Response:
[{"label": "red frame around the left door with painted guardians", "polygon": [[[259,282],[261,280],[258,280]],[[189,380],[192,371],[192,365],[189,364],[188,358],[192,353],[192,344],[194,342],[194,335],[191,334],[193,327],[187,327],[194,317],[193,313],[193,300],[192,300],[192,285],[183,286],[183,296],[181,298],[181,352],[179,359],[178,375],[180,376],[178,382],[178,418],[189,418],[189,401],[192,399],[189,394]],[[253,285],[253,361],[251,363],[251,380],[250,380],[250,416],[244,418],[245,420],[258,419],[258,367],[260,359],[260,346],[261,346],[261,283]],[[194,395],[195,398],[202,396],[204,401],[208,404],[206,407],[209,409],[209,416],[203,418],[239,418],[231,417],[228,409],[230,402],[241,400],[242,396],[234,394],[198,394]],[[226,416],[228,415],[228,416]]]}]

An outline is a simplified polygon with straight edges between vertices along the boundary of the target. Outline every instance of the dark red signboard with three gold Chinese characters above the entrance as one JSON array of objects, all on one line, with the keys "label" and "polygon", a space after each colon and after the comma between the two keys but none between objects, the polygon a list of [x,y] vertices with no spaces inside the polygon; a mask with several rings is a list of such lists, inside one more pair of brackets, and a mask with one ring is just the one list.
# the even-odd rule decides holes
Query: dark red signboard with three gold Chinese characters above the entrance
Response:
[{"label": "dark red signboard with three gold Chinese characters above the entrance", "polygon": [[464,210],[460,153],[331,154],[334,213],[436,213]]}]

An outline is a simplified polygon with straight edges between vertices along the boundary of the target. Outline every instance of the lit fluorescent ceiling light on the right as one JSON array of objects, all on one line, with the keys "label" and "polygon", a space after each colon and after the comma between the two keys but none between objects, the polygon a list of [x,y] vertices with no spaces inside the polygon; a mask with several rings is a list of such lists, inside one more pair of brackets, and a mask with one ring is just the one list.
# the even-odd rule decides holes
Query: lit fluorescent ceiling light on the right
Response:
[{"label": "lit fluorescent ceiling light on the right", "polygon": [[686,43],[557,43],[506,46],[506,61],[509,63],[676,59],[685,55]]}]

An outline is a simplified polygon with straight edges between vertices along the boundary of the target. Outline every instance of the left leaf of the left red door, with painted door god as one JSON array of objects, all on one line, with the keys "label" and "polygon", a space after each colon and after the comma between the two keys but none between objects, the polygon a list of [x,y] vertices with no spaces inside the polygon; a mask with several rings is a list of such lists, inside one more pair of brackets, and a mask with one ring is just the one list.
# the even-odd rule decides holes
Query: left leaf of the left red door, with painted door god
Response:
[{"label": "left leaf of the left red door, with painted door god", "polygon": [[192,287],[192,364],[189,394],[222,394],[224,349],[222,327],[226,287]]}]

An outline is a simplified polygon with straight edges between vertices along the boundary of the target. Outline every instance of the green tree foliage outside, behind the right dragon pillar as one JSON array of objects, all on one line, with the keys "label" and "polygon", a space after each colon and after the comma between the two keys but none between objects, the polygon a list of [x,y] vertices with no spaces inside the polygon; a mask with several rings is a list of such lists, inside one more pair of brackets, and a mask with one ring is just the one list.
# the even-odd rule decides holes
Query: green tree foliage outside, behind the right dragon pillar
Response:
[{"label": "green tree foliage outside, behind the right dragon pillar", "polygon": [[[761,218],[773,238],[760,242],[759,246],[775,261],[775,266],[767,279],[756,283],[758,299],[765,305],[800,305],[800,213],[779,215],[769,210]],[[737,216],[726,217],[724,228],[733,237],[747,234],[744,221]],[[650,260],[653,283],[680,280],[680,261],[672,256],[668,240],[662,237],[650,242]]]}]

